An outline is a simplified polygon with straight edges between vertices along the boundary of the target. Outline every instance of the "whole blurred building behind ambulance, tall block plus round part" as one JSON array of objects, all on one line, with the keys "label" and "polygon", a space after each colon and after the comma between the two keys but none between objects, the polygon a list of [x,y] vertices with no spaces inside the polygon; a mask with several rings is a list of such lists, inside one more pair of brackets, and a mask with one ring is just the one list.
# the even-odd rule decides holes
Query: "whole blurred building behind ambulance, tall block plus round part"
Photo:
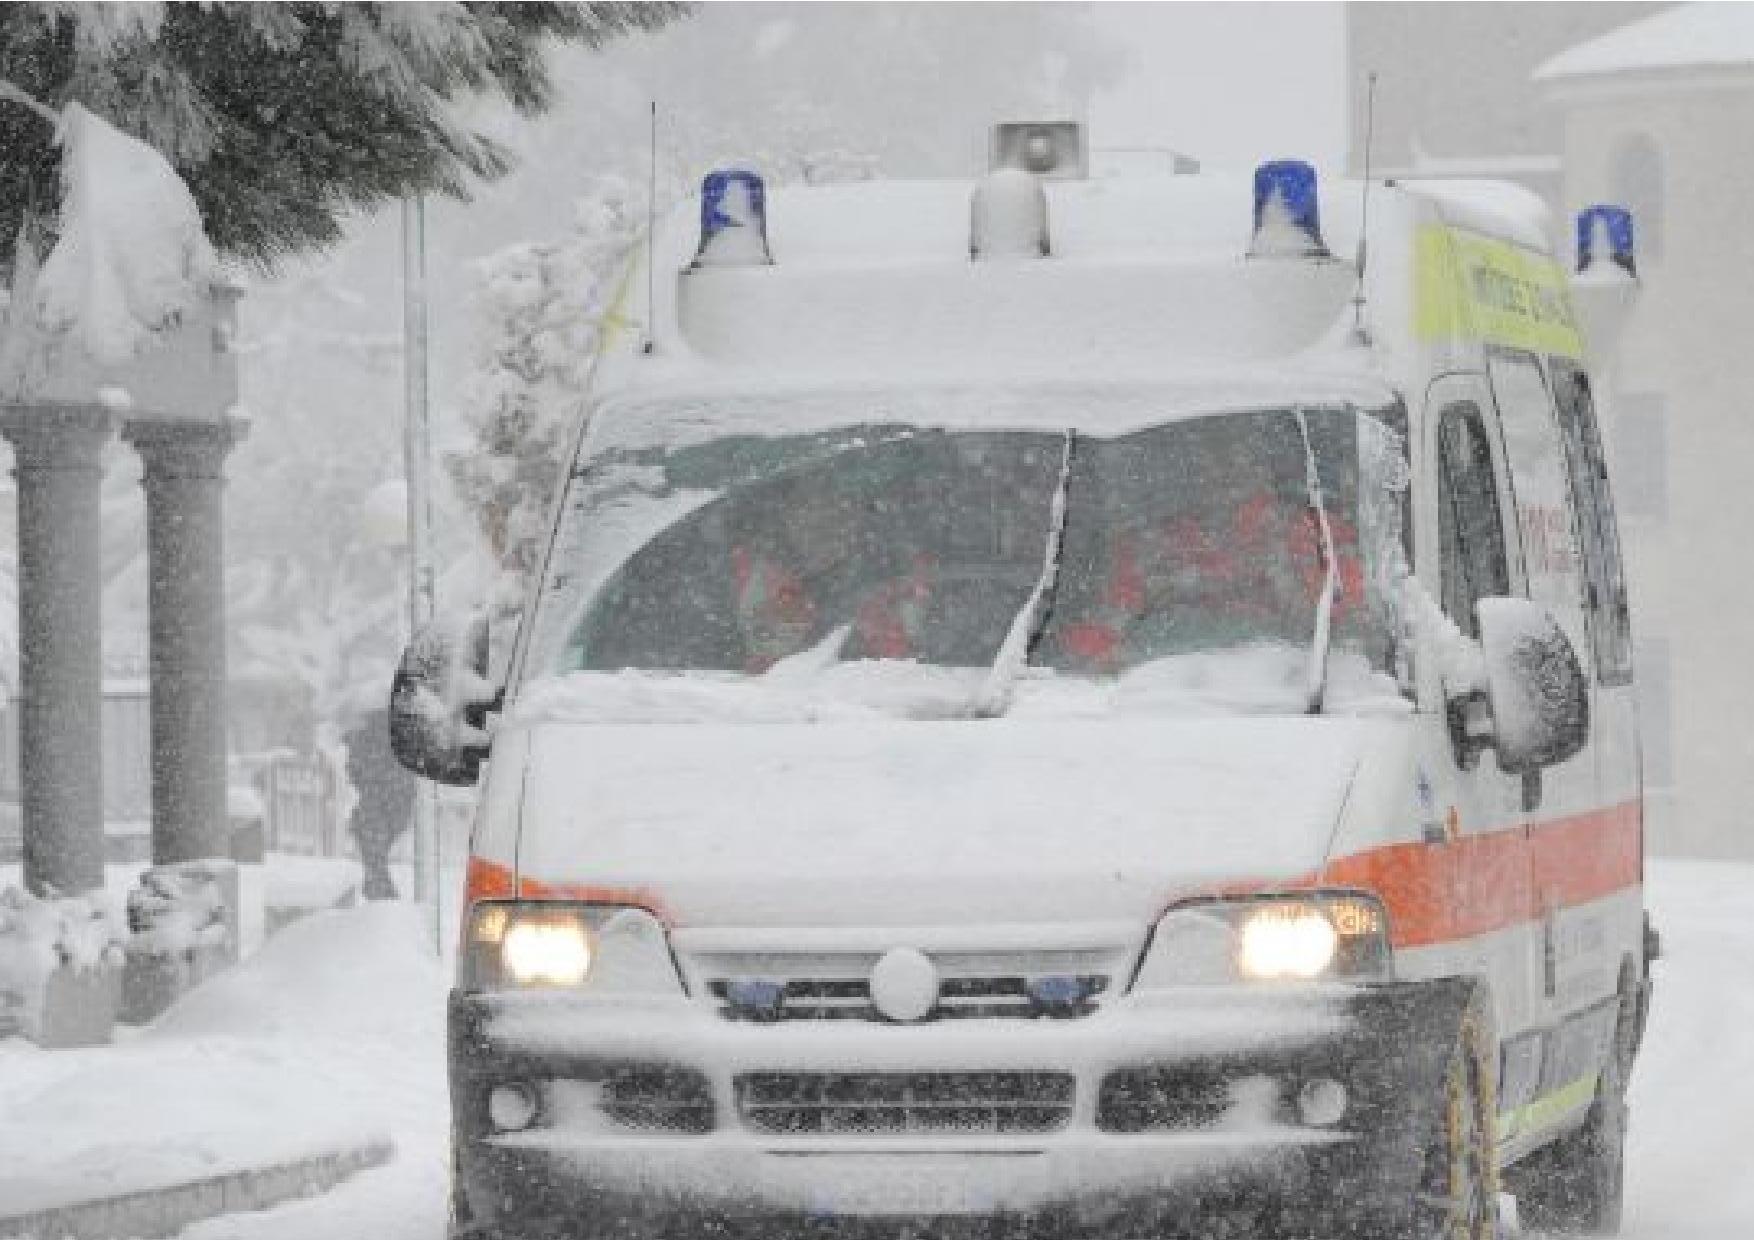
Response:
[{"label": "whole blurred building behind ambulance, tall block plus round part", "polygon": [[1600,360],[1638,638],[1651,845],[1754,856],[1754,5],[1352,4],[1375,168],[1633,210],[1638,293]]}]

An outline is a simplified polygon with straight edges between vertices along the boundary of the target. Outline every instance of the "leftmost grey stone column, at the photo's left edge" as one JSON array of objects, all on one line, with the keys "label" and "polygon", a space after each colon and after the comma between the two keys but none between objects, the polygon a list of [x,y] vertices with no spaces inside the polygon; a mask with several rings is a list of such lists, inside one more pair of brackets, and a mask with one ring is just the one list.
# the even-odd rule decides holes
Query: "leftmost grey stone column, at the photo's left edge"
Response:
[{"label": "leftmost grey stone column, at the photo's left edge", "polygon": [[98,510],[109,410],[9,405],[18,477],[19,779],[25,887],[103,886]]}]

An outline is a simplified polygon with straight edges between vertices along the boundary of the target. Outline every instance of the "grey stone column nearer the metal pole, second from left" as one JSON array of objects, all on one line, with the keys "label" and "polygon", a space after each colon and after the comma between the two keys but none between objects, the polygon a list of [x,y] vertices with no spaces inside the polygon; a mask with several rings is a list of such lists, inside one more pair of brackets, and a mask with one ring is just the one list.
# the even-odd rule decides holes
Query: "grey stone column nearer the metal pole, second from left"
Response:
[{"label": "grey stone column nearer the metal pole, second from left", "polygon": [[123,428],[146,463],[153,865],[230,858],[221,467],[235,421]]}]

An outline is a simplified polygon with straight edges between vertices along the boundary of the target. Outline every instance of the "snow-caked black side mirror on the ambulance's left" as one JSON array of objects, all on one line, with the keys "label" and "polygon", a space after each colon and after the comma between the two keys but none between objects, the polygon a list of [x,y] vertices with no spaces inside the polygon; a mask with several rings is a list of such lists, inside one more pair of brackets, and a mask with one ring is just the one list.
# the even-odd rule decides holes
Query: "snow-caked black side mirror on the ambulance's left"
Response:
[{"label": "snow-caked black side mirror on the ambulance's left", "polygon": [[389,747],[416,775],[474,784],[488,756],[488,712],[498,703],[486,619],[428,624],[409,642],[389,688]]}]

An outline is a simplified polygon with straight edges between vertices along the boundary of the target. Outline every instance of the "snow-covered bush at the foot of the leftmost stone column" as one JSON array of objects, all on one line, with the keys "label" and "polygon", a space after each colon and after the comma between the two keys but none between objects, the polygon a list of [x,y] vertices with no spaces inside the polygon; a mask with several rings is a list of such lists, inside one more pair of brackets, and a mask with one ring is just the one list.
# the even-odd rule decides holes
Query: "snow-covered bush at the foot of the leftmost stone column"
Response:
[{"label": "snow-covered bush at the foot of the leftmost stone column", "polygon": [[51,975],[118,968],[123,942],[125,930],[102,896],[0,891],[0,1037],[37,1037]]}]

